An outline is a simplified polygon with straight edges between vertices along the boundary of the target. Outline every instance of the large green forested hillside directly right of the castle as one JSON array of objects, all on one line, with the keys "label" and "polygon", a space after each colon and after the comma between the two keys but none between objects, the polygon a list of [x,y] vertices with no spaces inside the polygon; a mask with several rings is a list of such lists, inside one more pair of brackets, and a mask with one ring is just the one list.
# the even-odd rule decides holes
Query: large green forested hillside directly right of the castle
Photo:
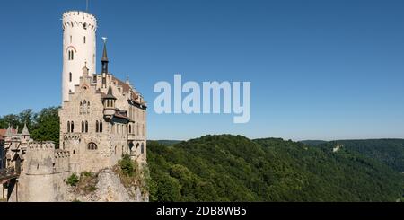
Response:
[{"label": "large green forested hillside directly right of the castle", "polygon": [[203,136],[148,145],[153,201],[396,201],[404,178],[355,152]]}]

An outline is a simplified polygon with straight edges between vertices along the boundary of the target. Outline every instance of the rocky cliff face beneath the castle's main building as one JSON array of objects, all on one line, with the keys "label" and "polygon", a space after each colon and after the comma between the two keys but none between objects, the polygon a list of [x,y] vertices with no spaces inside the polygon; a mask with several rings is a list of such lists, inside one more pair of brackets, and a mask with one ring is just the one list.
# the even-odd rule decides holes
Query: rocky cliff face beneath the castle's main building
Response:
[{"label": "rocky cliff face beneath the castle's main building", "polygon": [[148,202],[139,187],[126,187],[111,169],[82,177],[77,186],[67,189],[66,201],[80,202]]}]

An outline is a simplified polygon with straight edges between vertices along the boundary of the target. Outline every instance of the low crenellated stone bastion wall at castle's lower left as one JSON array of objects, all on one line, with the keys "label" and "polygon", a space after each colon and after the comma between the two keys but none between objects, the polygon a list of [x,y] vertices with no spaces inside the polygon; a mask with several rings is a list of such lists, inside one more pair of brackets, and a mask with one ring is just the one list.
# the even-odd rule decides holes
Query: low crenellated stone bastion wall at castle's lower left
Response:
[{"label": "low crenellated stone bastion wall at castle's lower left", "polygon": [[26,152],[26,171],[13,186],[9,201],[64,201],[70,174],[70,153],[53,142],[31,142]]}]

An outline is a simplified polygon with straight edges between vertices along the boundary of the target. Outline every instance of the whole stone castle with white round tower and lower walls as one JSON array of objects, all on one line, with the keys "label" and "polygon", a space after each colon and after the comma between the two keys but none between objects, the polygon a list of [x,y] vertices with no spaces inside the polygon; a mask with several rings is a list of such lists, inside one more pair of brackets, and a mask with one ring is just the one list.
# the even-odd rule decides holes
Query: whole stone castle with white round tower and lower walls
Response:
[{"label": "whole stone castle with white round tower and lower walls", "polygon": [[18,176],[4,184],[9,201],[64,201],[73,173],[110,168],[124,154],[146,163],[146,102],[109,72],[106,39],[96,74],[96,31],[92,14],[63,14],[60,140],[35,142],[26,126],[21,134],[7,129],[6,168]]}]

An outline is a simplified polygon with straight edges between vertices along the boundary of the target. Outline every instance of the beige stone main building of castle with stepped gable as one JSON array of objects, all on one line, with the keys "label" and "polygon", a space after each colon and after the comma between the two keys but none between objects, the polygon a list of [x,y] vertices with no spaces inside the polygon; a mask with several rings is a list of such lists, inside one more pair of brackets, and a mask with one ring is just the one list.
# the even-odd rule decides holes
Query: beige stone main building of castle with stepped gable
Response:
[{"label": "beige stone main building of castle with stepped gable", "polygon": [[80,83],[59,111],[60,147],[70,152],[71,172],[100,171],[115,165],[123,154],[145,163],[146,104],[142,96],[129,82],[110,73],[88,73],[83,67]]}]

